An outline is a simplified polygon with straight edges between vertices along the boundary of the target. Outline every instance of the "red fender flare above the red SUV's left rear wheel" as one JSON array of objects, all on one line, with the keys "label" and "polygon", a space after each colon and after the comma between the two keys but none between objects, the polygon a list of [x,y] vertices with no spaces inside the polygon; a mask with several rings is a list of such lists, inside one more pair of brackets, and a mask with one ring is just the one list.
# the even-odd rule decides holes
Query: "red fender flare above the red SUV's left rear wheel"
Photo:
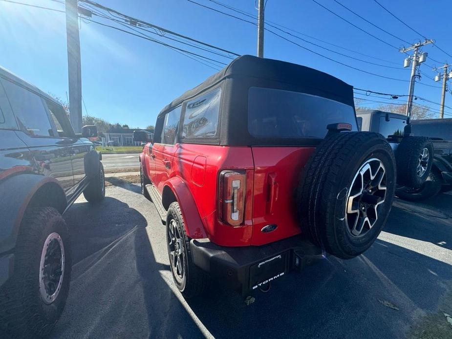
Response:
[{"label": "red fender flare above the red SUV's left rear wheel", "polygon": [[165,183],[165,187],[171,189],[179,203],[187,235],[192,239],[207,238],[207,233],[187,184],[179,177],[172,177]]}]

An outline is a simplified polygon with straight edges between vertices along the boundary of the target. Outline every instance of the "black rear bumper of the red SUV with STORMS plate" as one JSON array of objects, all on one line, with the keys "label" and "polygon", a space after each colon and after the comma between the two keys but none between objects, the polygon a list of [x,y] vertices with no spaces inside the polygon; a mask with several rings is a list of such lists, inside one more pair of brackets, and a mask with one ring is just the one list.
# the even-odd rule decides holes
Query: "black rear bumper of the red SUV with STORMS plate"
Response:
[{"label": "black rear bumper of the red SUV with STORMS plate", "polygon": [[242,295],[323,255],[320,248],[299,235],[247,247],[224,247],[207,239],[192,239],[190,249],[196,266]]}]

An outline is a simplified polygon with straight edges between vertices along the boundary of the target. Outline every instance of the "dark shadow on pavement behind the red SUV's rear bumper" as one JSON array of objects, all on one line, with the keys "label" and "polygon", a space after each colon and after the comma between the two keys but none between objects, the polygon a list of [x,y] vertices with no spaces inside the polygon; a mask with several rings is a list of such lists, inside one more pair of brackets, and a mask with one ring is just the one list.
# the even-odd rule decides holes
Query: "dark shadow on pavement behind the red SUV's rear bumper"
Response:
[{"label": "dark shadow on pavement behind the red SUV's rear bumper", "polygon": [[250,306],[218,287],[188,302],[215,338],[401,338],[422,310],[436,311],[451,279],[450,265],[377,240],[360,257],[286,276]]}]

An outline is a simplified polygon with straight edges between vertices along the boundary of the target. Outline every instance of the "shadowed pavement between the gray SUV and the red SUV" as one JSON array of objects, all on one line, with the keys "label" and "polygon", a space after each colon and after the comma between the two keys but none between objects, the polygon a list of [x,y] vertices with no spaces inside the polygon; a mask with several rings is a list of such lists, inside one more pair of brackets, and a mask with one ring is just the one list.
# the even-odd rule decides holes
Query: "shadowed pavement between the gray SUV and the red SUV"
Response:
[{"label": "shadowed pavement between the gray SUV and the red SUV", "polygon": [[202,337],[161,274],[169,267],[155,260],[140,212],[106,197],[75,204],[65,218],[74,266],[53,338]]}]

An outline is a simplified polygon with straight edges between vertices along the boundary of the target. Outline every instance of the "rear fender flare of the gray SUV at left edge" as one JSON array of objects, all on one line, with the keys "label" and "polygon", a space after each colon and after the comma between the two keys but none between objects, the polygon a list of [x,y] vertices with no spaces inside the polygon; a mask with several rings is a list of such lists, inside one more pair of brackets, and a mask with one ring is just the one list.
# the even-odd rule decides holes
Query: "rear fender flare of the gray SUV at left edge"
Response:
[{"label": "rear fender flare of the gray SUV at left edge", "polygon": [[63,213],[66,196],[60,183],[52,177],[38,174],[18,174],[0,183],[0,253],[12,250],[16,246],[17,235],[22,217],[35,193],[44,185],[52,185],[59,190],[58,212]]}]

